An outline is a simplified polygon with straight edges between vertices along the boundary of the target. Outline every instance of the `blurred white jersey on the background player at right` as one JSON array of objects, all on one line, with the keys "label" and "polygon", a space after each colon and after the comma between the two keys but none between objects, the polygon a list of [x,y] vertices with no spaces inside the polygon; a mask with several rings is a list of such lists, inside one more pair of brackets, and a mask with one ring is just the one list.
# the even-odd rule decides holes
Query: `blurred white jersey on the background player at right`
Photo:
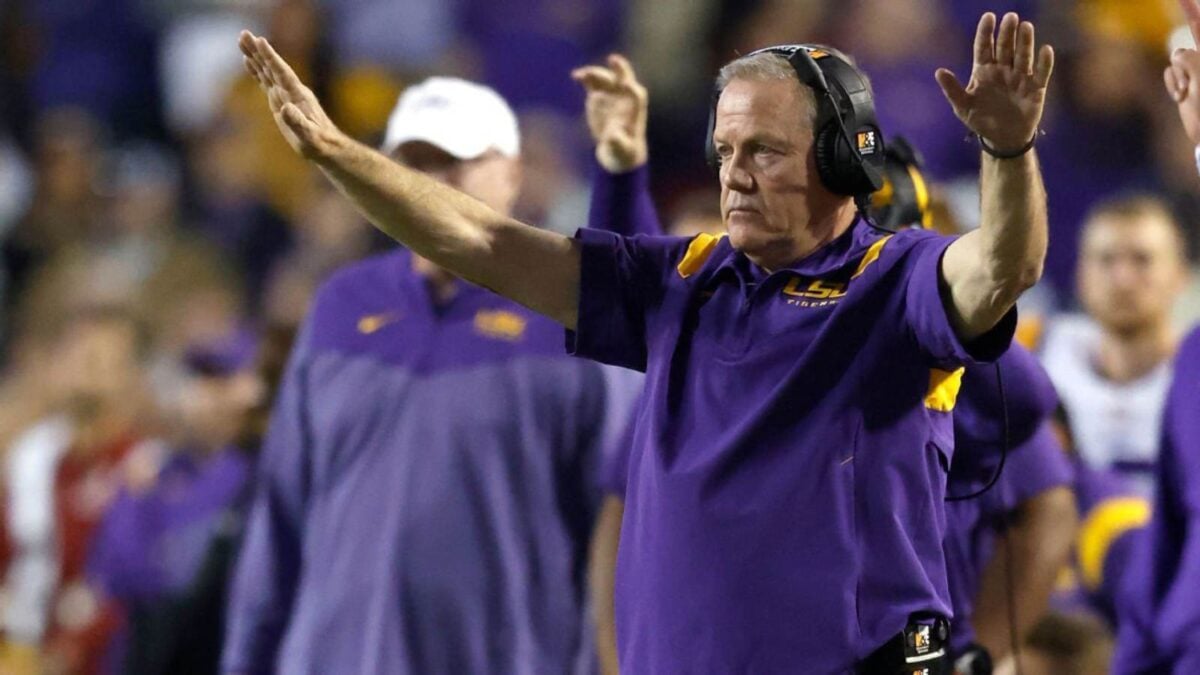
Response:
[{"label": "blurred white jersey on the background player at right", "polygon": [[1171,362],[1164,360],[1138,380],[1112,382],[1096,369],[1099,341],[1100,329],[1090,318],[1057,318],[1046,330],[1042,363],[1070,416],[1084,461],[1128,477],[1148,496],[1154,488]]}]

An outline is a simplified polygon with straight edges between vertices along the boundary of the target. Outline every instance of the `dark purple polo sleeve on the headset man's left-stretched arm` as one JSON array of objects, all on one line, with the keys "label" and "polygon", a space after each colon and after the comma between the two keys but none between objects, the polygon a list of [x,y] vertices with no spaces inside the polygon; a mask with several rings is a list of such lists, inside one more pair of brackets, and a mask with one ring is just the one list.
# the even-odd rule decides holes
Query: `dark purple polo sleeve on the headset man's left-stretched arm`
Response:
[{"label": "dark purple polo sleeve on the headset man's left-stretched arm", "polygon": [[646,370],[647,324],[661,304],[674,261],[688,240],[620,237],[580,229],[580,305],[566,350],[575,356]]}]

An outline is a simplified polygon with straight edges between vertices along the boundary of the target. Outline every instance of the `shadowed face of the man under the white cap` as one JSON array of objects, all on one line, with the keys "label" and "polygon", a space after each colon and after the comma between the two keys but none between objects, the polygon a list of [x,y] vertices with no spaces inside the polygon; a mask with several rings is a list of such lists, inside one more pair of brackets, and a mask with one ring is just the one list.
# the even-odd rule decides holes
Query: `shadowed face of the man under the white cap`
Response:
[{"label": "shadowed face of the man under the white cap", "polygon": [[392,157],[509,215],[521,189],[521,166],[514,157],[488,150],[473,160],[460,160],[437,145],[419,141],[396,148]]}]

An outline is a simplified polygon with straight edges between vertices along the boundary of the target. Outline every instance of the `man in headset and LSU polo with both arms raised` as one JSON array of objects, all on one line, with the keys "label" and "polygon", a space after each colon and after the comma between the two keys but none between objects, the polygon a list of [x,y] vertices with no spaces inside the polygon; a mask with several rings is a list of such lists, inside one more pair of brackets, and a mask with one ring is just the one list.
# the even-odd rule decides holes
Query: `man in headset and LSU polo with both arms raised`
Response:
[{"label": "man in headset and LSU polo with both arms raised", "polygon": [[882,148],[863,77],[829,49],[722,68],[709,147],[728,238],[571,240],[350,141],[266,40],[240,44],[284,138],[374,225],[554,318],[572,352],[647,371],[617,574],[624,668],[944,673],[960,369],[1007,348],[1045,252],[1031,149],[1052,50],[1036,56],[1016,14],[996,24],[980,19],[968,88],[937,72],[988,153],[983,227],[956,239],[857,217]]}]

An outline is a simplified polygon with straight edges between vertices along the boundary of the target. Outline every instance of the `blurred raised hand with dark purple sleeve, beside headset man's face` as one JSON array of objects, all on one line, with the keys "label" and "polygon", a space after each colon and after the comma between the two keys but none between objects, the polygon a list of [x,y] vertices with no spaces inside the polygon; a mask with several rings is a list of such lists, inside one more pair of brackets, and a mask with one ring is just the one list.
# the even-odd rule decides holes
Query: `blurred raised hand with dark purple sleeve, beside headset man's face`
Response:
[{"label": "blurred raised hand with dark purple sleeve, beside headset man's face", "polygon": [[598,167],[592,177],[588,227],[624,237],[662,234],[647,168],[649,95],[634,66],[625,56],[611,54],[606,65],[575,68],[571,79],[584,90],[588,131],[595,143]]}]

